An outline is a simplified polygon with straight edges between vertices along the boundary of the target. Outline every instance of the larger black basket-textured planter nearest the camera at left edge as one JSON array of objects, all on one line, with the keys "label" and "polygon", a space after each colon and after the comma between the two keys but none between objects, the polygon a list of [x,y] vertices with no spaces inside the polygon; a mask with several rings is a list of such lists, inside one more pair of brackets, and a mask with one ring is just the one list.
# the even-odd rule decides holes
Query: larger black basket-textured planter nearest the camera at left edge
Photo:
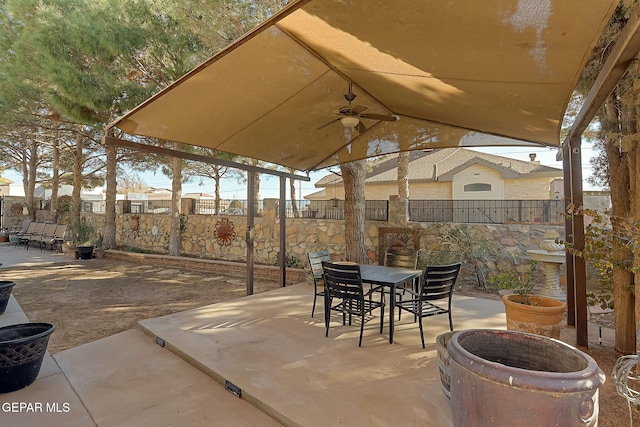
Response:
[{"label": "larger black basket-textured planter nearest the camera at left edge", "polygon": [[54,330],[50,323],[0,328],[0,393],[20,390],[36,380]]}]

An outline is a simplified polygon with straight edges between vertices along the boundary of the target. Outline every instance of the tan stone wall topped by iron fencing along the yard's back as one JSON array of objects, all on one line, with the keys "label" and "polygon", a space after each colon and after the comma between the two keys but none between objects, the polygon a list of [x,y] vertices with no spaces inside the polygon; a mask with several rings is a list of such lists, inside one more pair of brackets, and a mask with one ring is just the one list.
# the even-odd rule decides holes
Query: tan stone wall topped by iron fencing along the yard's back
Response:
[{"label": "tan stone wall topped by iron fencing along the yard's back", "polygon": [[[371,263],[377,263],[380,228],[403,228],[419,231],[420,247],[427,248],[437,242],[438,227],[430,223],[407,223],[393,218],[402,218],[403,206],[397,200],[390,201],[389,222],[367,221],[366,245]],[[257,264],[275,265],[279,252],[279,227],[276,218],[276,200],[267,199],[262,215],[255,218],[255,255]],[[87,215],[92,216],[92,215]],[[95,215],[92,222],[103,223],[102,215]],[[223,219],[233,224],[235,236],[228,245],[216,240],[216,225]],[[120,214],[117,216],[116,242],[163,254],[167,252],[169,237],[169,215]],[[185,257],[244,262],[246,258],[245,216],[185,215],[182,233],[181,254]],[[453,225],[452,225],[453,226]],[[526,261],[526,250],[538,249],[544,233],[553,229],[564,236],[564,227],[542,224],[466,224],[487,239],[498,242],[506,257],[516,255]],[[297,266],[306,266],[308,252],[327,249],[336,258],[344,259],[344,222],[342,220],[287,218],[287,256],[295,257]],[[277,270],[276,270],[277,271]],[[276,273],[277,277],[277,273]]]}]

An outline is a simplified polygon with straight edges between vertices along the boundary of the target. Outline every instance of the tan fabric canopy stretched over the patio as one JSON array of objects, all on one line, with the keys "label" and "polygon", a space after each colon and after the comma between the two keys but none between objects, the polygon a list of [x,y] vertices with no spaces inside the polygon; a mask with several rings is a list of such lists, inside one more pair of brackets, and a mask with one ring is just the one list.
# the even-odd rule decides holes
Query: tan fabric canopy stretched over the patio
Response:
[{"label": "tan fabric canopy stretched over the patio", "polygon": [[425,148],[559,146],[617,3],[292,1],[107,129],[304,171]]}]

